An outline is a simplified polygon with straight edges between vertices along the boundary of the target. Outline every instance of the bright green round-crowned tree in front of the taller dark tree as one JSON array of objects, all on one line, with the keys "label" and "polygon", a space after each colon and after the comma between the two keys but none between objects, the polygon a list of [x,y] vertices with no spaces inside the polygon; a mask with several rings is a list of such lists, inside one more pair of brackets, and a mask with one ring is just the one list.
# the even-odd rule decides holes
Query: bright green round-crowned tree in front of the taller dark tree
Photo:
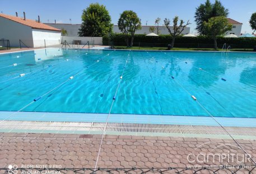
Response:
[{"label": "bright green round-crowned tree in front of the taller dark tree", "polygon": [[212,17],[208,22],[203,22],[203,30],[208,36],[214,40],[214,48],[217,49],[217,36],[224,35],[232,29],[232,24],[229,23],[225,16]]}]

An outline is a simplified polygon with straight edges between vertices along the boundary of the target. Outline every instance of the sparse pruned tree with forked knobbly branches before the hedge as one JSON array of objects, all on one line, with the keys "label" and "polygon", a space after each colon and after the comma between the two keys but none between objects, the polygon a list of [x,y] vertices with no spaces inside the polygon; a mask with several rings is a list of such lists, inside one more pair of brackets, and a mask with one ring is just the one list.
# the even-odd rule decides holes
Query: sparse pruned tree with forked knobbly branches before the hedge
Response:
[{"label": "sparse pruned tree with forked knobbly branches before the hedge", "polygon": [[185,29],[185,27],[187,27],[189,24],[189,20],[187,23],[185,23],[183,20],[180,20],[180,24],[178,25],[178,21],[179,21],[179,17],[175,16],[173,18],[173,30],[171,29],[171,21],[167,18],[165,18],[164,23],[165,26],[167,28],[167,30],[169,31],[170,35],[173,37],[173,39],[171,40],[171,48],[173,48],[174,46],[174,41],[175,41],[175,37],[180,35],[181,32]]}]

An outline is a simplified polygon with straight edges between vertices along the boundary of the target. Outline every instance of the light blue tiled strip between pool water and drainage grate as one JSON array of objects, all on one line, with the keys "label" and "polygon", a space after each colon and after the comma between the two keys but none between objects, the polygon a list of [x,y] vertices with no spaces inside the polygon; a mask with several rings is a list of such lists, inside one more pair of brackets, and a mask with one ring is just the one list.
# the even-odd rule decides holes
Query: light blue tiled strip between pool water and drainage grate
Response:
[{"label": "light blue tiled strip between pool water and drainage grate", "polygon": [[[9,117],[12,115],[11,117]],[[108,114],[86,114],[65,112],[12,112],[0,111],[0,120],[22,121],[72,121],[104,123]],[[255,118],[215,117],[222,126],[238,126],[256,128]],[[178,115],[137,115],[111,114],[109,123],[140,123],[140,124],[180,124],[180,125],[218,125],[210,116],[178,116]]]}]

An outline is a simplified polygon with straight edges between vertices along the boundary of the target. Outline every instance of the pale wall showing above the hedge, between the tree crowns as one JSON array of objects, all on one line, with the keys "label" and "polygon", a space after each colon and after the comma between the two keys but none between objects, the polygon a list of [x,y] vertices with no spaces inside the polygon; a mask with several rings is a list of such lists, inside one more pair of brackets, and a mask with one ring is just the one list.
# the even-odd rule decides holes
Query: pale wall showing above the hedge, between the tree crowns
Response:
[{"label": "pale wall showing above the hedge, between the tree crowns", "polygon": [[[151,26],[142,26],[142,29],[141,30],[137,30],[135,32],[135,34],[149,34],[150,33],[150,31],[149,31],[150,27]],[[173,27],[171,27],[171,30],[173,30]],[[121,31],[118,29],[117,25],[114,25],[113,31],[117,32],[117,33],[121,33]],[[156,32],[157,32],[156,31],[156,27],[155,27],[155,31],[154,32],[156,34]],[[170,34],[165,26],[159,26],[159,32],[162,35],[169,35]],[[181,34],[186,35],[186,34],[189,34],[189,32],[190,32],[190,27],[185,27],[185,29],[183,30],[183,32],[181,32]]]}]

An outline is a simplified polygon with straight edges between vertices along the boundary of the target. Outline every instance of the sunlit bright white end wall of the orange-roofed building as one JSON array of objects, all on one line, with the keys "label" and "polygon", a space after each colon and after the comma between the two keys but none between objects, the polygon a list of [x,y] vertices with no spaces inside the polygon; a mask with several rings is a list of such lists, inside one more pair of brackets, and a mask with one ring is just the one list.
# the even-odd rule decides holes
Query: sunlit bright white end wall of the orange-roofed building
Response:
[{"label": "sunlit bright white end wall of the orange-roofed building", "polygon": [[58,45],[60,44],[60,35],[60,31],[32,29],[34,47],[44,46],[44,40],[46,46]]}]

